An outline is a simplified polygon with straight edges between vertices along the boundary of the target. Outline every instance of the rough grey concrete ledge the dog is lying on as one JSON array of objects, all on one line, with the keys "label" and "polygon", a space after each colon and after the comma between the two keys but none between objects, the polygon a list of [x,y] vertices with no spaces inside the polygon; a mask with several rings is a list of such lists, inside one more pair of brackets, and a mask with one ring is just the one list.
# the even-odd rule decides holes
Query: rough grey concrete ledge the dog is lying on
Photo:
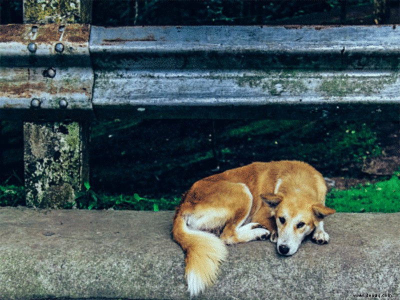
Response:
[{"label": "rough grey concrete ledge the dog is lying on", "polygon": [[[0,299],[188,298],[172,211],[0,208]],[[291,257],[229,246],[204,299],[400,298],[400,213],[336,213]]]}]

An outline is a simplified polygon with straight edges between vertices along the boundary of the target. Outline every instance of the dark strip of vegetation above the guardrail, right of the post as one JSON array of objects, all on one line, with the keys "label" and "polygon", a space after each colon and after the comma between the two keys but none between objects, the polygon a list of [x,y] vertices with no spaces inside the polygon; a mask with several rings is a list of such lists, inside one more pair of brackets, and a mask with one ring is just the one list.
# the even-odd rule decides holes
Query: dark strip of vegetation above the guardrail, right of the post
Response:
[{"label": "dark strip of vegetation above the guardrail, right of the post", "polygon": [[[375,1],[378,2],[378,1]],[[95,25],[375,24],[398,22],[398,0],[96,0]],[[376,19],[376,20],[375,20]]]}]

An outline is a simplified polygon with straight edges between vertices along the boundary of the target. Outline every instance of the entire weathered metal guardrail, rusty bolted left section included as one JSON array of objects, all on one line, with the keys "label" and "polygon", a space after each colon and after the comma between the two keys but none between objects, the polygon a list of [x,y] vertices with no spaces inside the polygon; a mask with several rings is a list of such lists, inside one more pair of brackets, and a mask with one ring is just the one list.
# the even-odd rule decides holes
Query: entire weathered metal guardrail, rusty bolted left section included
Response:
[{"label": "entire weathered metal guardrail, rusty bolted left section included", "polygon": [[0,118],[400,119],[398,30],[1,25]]}]

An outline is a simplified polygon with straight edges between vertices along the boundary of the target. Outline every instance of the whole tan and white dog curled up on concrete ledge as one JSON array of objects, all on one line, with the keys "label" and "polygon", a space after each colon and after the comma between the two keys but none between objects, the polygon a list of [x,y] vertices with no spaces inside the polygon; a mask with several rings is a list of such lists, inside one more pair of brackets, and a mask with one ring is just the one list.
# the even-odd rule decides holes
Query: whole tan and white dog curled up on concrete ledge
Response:
[{"label": "whole tan and white dog curled up on concrete ledge", "polygon": [[190,297],[215,281],[226,245],[257,239],[276,242],[279,254],[294,254],[303,238],[327,243],[322,175],[301,161],[253,162],[196,181],[182,196],[172,236],[185,252]]}]

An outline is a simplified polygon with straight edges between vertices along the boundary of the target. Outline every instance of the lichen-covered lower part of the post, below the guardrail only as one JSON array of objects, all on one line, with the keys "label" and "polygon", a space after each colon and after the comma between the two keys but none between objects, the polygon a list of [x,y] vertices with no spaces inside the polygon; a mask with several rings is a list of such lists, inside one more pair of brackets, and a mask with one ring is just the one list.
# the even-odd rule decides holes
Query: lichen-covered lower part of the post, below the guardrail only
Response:
[{"label": "lichen-covered lower part of the post, below the guardrail only", "polygon": [[26,205],[61,208],[88,180],[88,124],[24,122]]}]

